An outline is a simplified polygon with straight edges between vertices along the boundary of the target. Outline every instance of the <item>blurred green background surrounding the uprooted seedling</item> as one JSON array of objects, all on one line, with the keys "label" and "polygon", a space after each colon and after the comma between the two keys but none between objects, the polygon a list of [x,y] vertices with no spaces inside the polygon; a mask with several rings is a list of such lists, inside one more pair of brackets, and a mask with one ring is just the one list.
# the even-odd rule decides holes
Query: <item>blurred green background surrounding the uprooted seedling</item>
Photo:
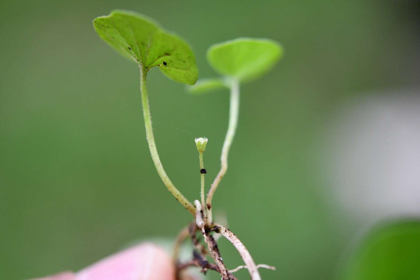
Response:
[{"label": "blurred green background surrounding the uprooted seedling", "polygon": [[[192,46],[267,37],[285,55],[241,87],[239,127],[214,211],[264,279],[336,279],[363,219],[320,192],[321,128],[370,90],[420,85],[418,1],[1,1],[0,278],[79,270],[135,240],[174,238],[191,216],[160,181],[145,139],[136,65],[95,33],[115,8],[159,21]],[[194,137],[209,138],[207,188],[220,166],[228,94],[186,93],[148,75],[155,139],[171,180],[199,196]],[[220,220],[224,223],[224,220]],[[241,264],[220,241],[228,267]],[[211,279],[219,279],[210,272]],[[237,273],[247,279],[247,272]]]}]

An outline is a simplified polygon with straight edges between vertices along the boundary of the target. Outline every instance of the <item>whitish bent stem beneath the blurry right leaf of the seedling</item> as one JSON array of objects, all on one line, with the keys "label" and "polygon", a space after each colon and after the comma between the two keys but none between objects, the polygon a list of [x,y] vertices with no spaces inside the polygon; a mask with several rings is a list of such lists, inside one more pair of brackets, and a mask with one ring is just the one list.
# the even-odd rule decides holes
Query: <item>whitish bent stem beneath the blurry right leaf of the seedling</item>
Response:
[{"label": "whitish bent stem beneath the blurry right leaf of the seedling", "polygon": [[211,184],[210,190],[207,193],[207,220],[212,222],[212,212],[211,212],[211,201],[213,199],[213,194],[216,191],[217,186],[222,180],[223,176],[228,170],[228,153],[231,147],[232,141],[235,136],[236,126],[238,125],[238,115],[239,115],[239,81],[231,80],[230,84],[231,95],[230,95],[230,104],[229,104],[229,124],[228,131],[226,133],[225,141],[223,142],[222,155],[220,156],[220,171]]}]

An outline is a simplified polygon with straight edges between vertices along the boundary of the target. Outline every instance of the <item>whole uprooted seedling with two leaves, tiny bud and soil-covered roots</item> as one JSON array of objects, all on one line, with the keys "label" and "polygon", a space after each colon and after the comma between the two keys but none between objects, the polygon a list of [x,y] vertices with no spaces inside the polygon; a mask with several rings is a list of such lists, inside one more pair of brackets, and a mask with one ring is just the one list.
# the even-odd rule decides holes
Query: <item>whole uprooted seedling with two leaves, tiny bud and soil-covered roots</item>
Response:
[{"label": "whole uprooted seedling with two leaves, tiny bud and soil-covered roots", "polygon": [[[220,77],[197,82],[197,65],[189,45],[176,34],[164,30],[150,18],[134,12],[115,10],[108,16],[95,18],[93,25],[102,40],[139,66],[144,126],[153,163],[166,188],[194,217],[193,222],[180,232],[176,240],[173,252],[177,267],[176,277],[182,279],[187,267],[199,267],[204,273],[207,270],[218,272],[222,280],[235,280],[237,278],[233,273],[241,268],[247,268],[252,280],[260,280],[258,268],[274,268],[265,264],[256,265],[239,238],[228,228],[213,220],[212,199],[228,169],[228,153],[235,136],[239,116],[240,84],[251,81],[268,71],[281,58],[283,53],[281,45],[269,39],[252,38],[238,38],[214,44],[207,51],[207,60]],[[219,88],[230,91],[228,131],[220,157],[221,167],[207,195],[205,194],[207,172],[204,168],[203,154],[208,139],[205,137],[195,139],[199,153],[200,197],[193,203],[174,186],[163,169],[157,153],[146,79],[147,73],[155,67],[158,67],[169,79],[189,85],[189,91],[194,94]],[[204,244],[200,242],[198,234],[203,236]],[[220,234],[235,246],[244,260],[244,265],[233,270],[226,269],[214,238],[215,234]],[[179,246],[187,237],[191,237],[194,246],[193,258],[189,262],[180,263],[178,261]],[[207,261],[207,255],[211,256],[213,262]]]}]

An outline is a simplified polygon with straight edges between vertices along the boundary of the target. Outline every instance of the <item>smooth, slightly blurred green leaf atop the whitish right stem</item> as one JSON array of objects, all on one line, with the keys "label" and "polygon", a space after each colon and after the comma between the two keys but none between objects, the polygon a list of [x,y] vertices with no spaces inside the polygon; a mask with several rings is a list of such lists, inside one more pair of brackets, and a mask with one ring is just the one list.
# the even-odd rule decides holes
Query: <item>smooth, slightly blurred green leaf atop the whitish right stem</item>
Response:
[{"label": "smooth, slightly blurred green leaf atop the whitish right stem", "polygon": [[283,48],[273,40],[238,38],[212,45],[207,60],[220,74],[246,81],[267,72],[281,55]]}]

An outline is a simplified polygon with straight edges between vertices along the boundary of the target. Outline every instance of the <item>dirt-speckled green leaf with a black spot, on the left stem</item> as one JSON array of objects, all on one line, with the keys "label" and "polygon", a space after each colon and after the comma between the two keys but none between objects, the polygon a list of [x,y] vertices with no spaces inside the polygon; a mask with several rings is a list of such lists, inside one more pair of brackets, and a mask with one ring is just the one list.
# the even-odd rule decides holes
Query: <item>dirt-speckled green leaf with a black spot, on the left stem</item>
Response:
[{"label": "dirt-speckled green leaf with a black spot, on the left stem", "polygon": [[193,85],[197,65],[191,48],[181,38],[138,13],[115,10],[95,18],[99,36],[121,55],[138,63],[147,73],[157,66],[174,81]]}]

